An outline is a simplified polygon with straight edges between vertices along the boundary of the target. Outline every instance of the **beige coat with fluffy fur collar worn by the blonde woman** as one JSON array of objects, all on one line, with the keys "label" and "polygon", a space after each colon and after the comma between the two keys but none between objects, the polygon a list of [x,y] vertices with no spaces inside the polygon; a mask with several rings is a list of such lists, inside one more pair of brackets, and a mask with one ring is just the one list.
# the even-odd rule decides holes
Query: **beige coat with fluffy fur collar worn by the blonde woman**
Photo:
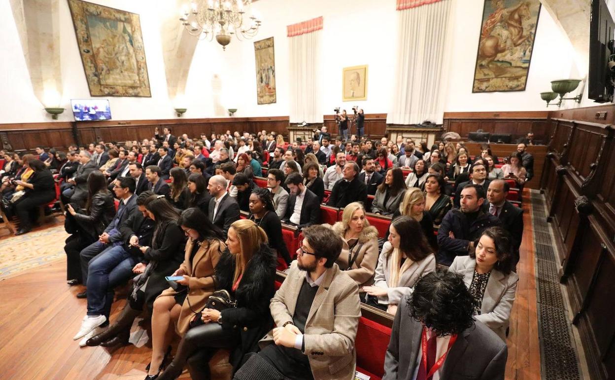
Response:
[{"label": "beige coat with fluffy fur collar worn by the blonde woman", "polygon": [[[363,228],[359,238],[346,240],[344,238],[343,222],[336,222],[333,231],[342,238],[344,245],[336,263],[339,269],[346,272],[359,288],[371,285],[374,281],[376,265],[378,265],[378,230],[373,225]],[[349,263],[352,262],[351,265]]]}]

